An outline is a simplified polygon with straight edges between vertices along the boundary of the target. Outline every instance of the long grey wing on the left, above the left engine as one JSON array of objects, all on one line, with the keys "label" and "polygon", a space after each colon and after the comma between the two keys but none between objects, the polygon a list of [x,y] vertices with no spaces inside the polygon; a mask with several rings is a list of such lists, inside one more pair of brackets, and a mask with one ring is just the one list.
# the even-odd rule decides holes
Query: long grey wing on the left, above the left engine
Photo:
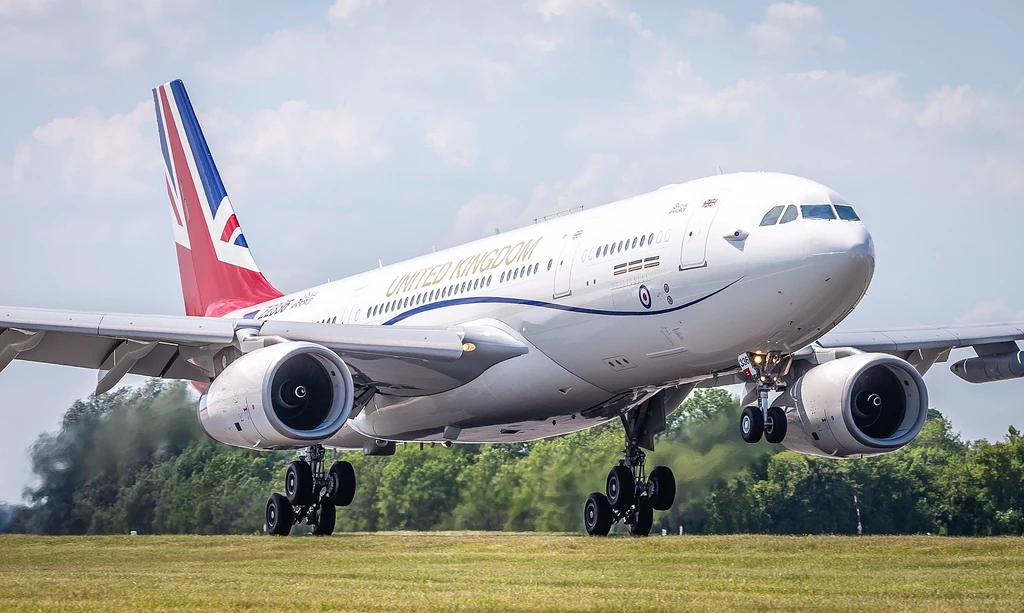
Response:
[{"label": "long grey wing on the left, above the left engine", "polygon": [[96,393],[128,374],[210,383],[221,356],[270,339],[323,345],[356,385],[399,396],[453,389],[527,351],[489,320],[440,329],[0,307],[0,370],[14,359],[93,368]]}]

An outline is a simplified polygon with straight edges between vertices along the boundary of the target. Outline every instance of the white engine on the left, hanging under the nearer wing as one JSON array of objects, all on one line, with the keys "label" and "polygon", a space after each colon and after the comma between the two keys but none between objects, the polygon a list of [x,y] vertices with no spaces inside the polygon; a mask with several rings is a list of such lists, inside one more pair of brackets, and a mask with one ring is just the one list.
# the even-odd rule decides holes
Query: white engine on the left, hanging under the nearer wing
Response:
[{"label": "white engine on the left, hanging under the nearer wing", "polygon": [[210,438],[236,447],[305,447],[341,430],[352,396],[352,375],[333,351],[279,343],[224,368],[200,399],[199,422]]}]

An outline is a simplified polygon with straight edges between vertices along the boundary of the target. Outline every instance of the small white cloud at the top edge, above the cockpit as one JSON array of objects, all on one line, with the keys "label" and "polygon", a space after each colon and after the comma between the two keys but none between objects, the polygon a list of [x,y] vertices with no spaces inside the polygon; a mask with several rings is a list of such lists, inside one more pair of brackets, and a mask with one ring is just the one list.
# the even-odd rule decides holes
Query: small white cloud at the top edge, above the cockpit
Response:
[{"label": "small white cloud at the top edge, above the cockpit", "polygon": [[842,37],[829,32],[818,7],[796,1],[769,5],[764,20],[751,25],[746,34],[762,55],[839,51],[846,46]]}]

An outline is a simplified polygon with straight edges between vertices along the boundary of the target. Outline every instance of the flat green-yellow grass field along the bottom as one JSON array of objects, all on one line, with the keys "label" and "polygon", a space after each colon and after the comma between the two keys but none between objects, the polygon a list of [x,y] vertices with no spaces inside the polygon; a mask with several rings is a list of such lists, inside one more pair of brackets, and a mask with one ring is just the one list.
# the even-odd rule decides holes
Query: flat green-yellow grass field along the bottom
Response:
[{"label": "flat green-yellow grass field along the bottom", "polygon": [[0,611],[1019,611],[1024,539],[0,537]]}]

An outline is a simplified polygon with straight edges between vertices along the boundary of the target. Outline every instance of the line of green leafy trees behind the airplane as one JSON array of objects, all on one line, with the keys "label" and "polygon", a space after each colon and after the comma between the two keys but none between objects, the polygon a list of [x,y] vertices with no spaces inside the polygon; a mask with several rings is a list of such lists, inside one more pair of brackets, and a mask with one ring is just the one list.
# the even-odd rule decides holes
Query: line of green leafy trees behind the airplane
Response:
[{"label": "line of green leafy trees behind the airplane", "polygon": [[[75,402],[29,450],[38,483],[23,503],[0,505],[0,531],[260,531],[295,454],[216,443],[195,406],[185,385],[157,381]],[[670,417],[647,467],[670,466],[678,493],[655,531],[852,534],[856,495],[864,533],[1024,534],[1024,440],[1014,428],[996,443],[966,442],[932,410],[905,448],[835,461],[743,443],[739,411],[735,397],[710,390]],[[582,532],[583,502],[603,490],[622,447],[612,422],[526,444],[338,453],[358,487],[337,530]]]}]

